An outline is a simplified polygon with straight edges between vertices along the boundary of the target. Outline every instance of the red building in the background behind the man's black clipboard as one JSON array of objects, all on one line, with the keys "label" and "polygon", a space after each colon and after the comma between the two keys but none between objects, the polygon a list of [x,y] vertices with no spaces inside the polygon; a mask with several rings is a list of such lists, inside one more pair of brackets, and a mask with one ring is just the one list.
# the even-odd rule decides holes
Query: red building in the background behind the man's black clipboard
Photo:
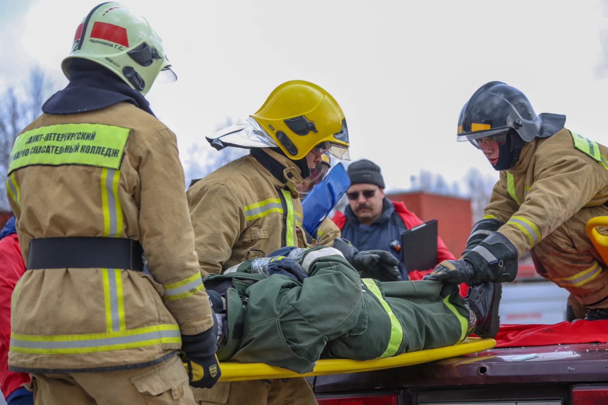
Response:
[{"label": "red building in the background behind the man's black clipboard", "polygon": [[439,236],[447,249],[455,257],[460,257],[472,226],[469,199],[421,192],[387,194],[387,197],[404,202],[407,209],[424,222],[437,220]]}]

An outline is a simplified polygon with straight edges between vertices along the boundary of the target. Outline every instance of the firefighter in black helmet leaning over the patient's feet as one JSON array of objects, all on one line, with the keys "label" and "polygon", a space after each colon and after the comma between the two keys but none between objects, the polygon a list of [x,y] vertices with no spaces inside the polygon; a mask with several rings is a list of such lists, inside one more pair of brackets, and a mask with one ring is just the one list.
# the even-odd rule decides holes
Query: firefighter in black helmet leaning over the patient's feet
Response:
[{"label": "firefighter in black helmet leaning over the patient's feet", "polygon": [[483,151],[500,179],[462,257],[443,261],[429,279],[511,282],[517,258],[531,251],[537,272],[587,308],[585,319],[608,319],[607,266],[585,230],[608,215],[608,148],[564,128],[565,119],[536,114],[501,81],[465,103],[457,140]]}]

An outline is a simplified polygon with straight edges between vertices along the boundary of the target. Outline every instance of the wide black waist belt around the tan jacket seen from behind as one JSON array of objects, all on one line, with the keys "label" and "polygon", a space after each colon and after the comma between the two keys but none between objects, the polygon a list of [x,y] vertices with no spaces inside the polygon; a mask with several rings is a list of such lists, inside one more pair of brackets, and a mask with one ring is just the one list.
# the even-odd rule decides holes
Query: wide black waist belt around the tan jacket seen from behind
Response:
[{"label": "wide black waist belt around the tan jacket seen from behind", "polygon": [[32,239],[27,269],[105,268],[143,271],[142,255],[142,245],[133,239]]}]

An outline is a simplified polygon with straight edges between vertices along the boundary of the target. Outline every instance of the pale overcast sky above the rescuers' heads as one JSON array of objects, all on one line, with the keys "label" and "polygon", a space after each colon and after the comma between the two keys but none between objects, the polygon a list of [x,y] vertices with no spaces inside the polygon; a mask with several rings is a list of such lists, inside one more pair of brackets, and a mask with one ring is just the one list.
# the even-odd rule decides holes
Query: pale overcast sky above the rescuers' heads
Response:
[{"label": "pale overcast sky above the rescuers' heads", "polygon": [[[98,0],[0,0],[0,90],[60,63]],[[147,98],[182,154],[226,116],[254,113],[283,81],[313,81],[348,121],[353,160],[382,167],[387,187],[421,168],[460,179],[494,174],[455,142],[458,113],[483,83],[505,81],[537,113],[608,144],[608,18],[599,0],[125,1],[162,37],[178,81]]]}]

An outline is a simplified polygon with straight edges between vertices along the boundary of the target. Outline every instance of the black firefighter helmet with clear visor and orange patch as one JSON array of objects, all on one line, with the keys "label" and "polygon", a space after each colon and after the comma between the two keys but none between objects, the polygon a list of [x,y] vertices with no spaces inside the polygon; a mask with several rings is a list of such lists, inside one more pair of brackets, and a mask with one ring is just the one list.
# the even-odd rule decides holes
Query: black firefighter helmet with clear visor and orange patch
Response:
[{"label": "black firefighter helmet with clear visor and orange patch", "polygon": [[[550,125],[543,131],[545,118]],[[500,154],[493,166],[506,170],[517,163],[525,142],[551,136],[564,123],[565,116],[537,115],[530,100],[518,89],[502,81],[490,81],[478,88],[460,111],[457,140],[468,140],[479,149],[481,139],[495,140]]]}]

